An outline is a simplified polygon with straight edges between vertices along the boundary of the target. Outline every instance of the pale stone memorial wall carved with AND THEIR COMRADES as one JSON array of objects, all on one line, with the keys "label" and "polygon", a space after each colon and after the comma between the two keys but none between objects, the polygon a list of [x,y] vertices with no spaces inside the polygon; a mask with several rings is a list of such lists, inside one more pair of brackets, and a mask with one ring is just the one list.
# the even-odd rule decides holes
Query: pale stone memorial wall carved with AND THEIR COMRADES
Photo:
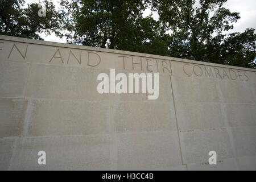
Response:
[{"label": "pale stone memorial wall carved with AND THEIR COMRADES", "polygon": [[[158,98],[99,93],[110,69]],[[0,169],[256,170],[256,70],[0,35]]]}]

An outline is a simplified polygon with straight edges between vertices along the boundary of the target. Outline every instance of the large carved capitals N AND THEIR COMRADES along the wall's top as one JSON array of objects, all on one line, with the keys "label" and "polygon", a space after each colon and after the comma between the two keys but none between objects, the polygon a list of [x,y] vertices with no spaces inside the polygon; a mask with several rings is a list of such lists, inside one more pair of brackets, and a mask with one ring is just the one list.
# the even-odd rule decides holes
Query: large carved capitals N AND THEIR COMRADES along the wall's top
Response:
[{"label": "large carved capitals N AND THEIR COMRADES along the wall's top", "polygon": [[[0,45],[4,42],[0,42]],[[40,45],[33,45],[39,46]],[[2,51],[4,47],[1,47]],[[10,50],[7,58],[17,56],[17,59],[22,58],[26,60],[28,54],[29,46],[27,44],[17,45],[16,43],[11,44],[7,49]],[[15,53],[14,53],[15,52]],[[40,54],[40,51],[38,52]],[[116,54],[115,54],[116,55]],[[19,56],[19,57],[18,57]],[[85,64],[88,67],[97,67],[101,64],[102,55],[96,52],[89,52],[86,50],[76,51],[76,49],[67,48],[53,48],[52,53],[49,53],[48,63],[55,64]],[[44,55],[39,55],[39,57],[44,57]],[[116,55],[118,61],[121,61],[122,68],[125,70],[134,71],[146,71],[146,72],[156,72],[156,73],[167,73],[172,75],[171,60],[153,59],[149,57],[139,57],[139,56],[127,56],[127,55]],[[47,61],[47,59],[46,59]],[[115,61],[115,60],[113,60]],[[187,76],[195,77],[208,77],[208,78],[219,78],[226,80],[240,80],[249,81],[249,74],[246,71],[241,71],[238,69],[213,67],[208,65],[184,63],[182,66],[182,71]],[[256,73],[255,73],[256,76]]]}]

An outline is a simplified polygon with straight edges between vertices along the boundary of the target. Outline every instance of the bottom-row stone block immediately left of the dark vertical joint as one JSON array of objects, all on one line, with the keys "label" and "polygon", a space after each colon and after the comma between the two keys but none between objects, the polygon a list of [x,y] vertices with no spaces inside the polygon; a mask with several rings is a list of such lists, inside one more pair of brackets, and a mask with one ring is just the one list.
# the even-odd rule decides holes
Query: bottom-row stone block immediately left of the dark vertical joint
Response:
[{"label": "bottom-row stone block immediately left of the dark vertical joint", "polygon": [[169,170],[181,166],[177,131],[117,135],[118,170]]}]

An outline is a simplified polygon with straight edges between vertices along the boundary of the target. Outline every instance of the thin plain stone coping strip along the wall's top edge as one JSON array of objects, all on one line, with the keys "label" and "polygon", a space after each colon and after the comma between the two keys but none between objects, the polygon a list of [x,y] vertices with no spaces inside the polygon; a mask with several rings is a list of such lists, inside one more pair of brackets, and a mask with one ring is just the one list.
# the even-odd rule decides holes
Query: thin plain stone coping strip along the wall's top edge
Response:
[{"label": "thin plain stone coping strip along the wall's top edge", "polygon": [[88,51],[118,53],[118,54],[122,54],[122,55],[141,56],[141,57],[148,57],[148,58],[154,58],[154,59],[171,60],[171,61],[178,61],[178,62],[183,62],[183,63],[192,63],[192,64],[199,64],[199,65],[208,65],[208,66],[212,66],[212,67],[239,69],[239,70],[244,70],[244,71],[256,72],[256,69],[253,69],[253,68],[244,68],[244,67],[236,67],[236,66],[224,65],[224,64],[208,63],[208,62],[203,62],[203,61],[181,59],[181,58],[177,58],[177,57],[152,55],[152,54],[149,54],[149,53],[121,51],[121,50],[118,50],[118,49],[90,47],[90,46],[79,46],[79,45],[73,45],[73,44],[67,44],[67,43],[56,43],[56,42],[49,42],[49,41],[45,41],[45,40],[19,38],[19,37],[15,37],[15,36],[0,35],[0,40],[8,40],[8,41],[11,41],[11,42],[20,42],[20,43],[28,43],[28,44],[37,44],[37,45],[43,45],[43,46],[82,49],[82,50],[88,50]]}]

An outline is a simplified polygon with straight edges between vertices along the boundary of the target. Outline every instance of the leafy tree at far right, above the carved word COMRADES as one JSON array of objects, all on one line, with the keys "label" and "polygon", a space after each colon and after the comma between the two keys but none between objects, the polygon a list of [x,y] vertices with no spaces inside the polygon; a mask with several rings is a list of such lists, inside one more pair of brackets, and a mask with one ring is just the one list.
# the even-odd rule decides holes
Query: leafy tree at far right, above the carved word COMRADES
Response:
[{"label": "leafy tree at far right, above the carved word COMRADES", "polygon": [[[225,35],[240,18],[223,7],[227,0],[157,0],[152,10],[172,30],[170,56],[255,68],[254,29]],[[213,14],[212,11],[215,11]]]}]

